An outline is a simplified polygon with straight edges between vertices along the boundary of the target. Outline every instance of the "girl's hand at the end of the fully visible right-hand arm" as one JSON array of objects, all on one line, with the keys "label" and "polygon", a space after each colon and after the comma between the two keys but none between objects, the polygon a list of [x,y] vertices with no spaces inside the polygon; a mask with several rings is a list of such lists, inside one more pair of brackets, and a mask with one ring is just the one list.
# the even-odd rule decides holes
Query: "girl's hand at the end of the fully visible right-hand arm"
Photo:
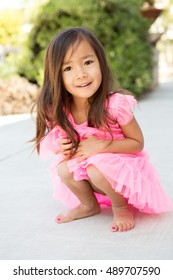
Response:
[{"label": "girl's hand at the end of the fully visible right-hand arm", "polygon": [[107,140],[98,139],[95,136],[86,136],[86,139],[80,142],[74,157],[79,157],[78,162],[81,162],[86,158],[101,152],[106,145],[105,141],[107,142]]}]

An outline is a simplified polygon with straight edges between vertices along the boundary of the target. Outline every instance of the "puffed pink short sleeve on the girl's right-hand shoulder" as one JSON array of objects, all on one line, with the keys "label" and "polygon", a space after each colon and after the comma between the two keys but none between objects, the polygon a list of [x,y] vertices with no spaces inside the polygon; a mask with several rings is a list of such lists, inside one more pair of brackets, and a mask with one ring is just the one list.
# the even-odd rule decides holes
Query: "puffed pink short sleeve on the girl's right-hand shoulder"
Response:
[{"label": "puffed pink short sleeve on the girl's right-hand shoulder", "polygon": [[132,95],[115,93],[109,103],[111,115],[119,125],[126,125],[132,120],[133,110],[137,106],[137,100]]}]

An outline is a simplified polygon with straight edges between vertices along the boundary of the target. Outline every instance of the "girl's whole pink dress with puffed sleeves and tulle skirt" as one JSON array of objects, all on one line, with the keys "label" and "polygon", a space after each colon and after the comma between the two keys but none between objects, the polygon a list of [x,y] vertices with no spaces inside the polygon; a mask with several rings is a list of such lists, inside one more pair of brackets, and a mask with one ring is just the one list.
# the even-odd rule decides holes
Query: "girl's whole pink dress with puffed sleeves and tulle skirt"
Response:
[{"label": "girl's whole pink dress with puffed sleeves and tulle skirt", "polygon": [[[133,96],[115,93],[109,97],[109,113],[117,121],[111,124],[113,138],[124,139],[121,125],[128,124],[133,118],[133,108],[137,101]],[[88,127],[87,122],[75,124],[71,114],[68,116],[73,127],[78,131],[81,141],[85,135],[94,135],[100,139],[111,139],[109,133],[98,128]],[[63,184],[57,174],[57,165],[64,159],[61,153],[55,155],[59,149],[59,139],[65,132],[59,127],[54,127],[43,138],[40,145],[40,156],[46,160],[54,156],[50,168],[50,175],[54,186],[54,196],[66,206],[73,208],[80,202],[78,198]],[[86,167],[94,165],[109,181],[115,192],[127,199],[128,203],[139,211],[145,213],[162,213],[173,210],[173,204],[160,185],[157,171],[149,162],[146,151],[134,154],[99,153],[78,163],[78,158],[68,160],[69,171],[73,173],[75,180],[87,180]],[[111,205],[107,196],[95,194],[100,204]]]}]

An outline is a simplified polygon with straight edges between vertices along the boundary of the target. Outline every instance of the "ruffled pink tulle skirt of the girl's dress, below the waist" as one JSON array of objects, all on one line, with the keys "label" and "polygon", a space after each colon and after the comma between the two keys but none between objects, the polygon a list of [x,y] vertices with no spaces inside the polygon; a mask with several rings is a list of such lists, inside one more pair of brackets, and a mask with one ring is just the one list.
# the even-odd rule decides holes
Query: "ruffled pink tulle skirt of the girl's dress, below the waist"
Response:
[{"label": "ruffled pink tulle skirt of the girl's dress, below the waist", "polygon": [[[73,208],[80,202],[57,175],[57,157],[50,168],[54,196]],[[173,204],[162,186],[157,171],[149,162],[148,154],[100,153],[78,163],[77,158],[68,161],[69,171],[76,181],[89,179],[87,166],[95,166],[107,179],[115,192],[124,196],[130,205],[145,213],[163,213],[173,210]],[[111,206],[107,196],[95,194],[100,204]]]}]

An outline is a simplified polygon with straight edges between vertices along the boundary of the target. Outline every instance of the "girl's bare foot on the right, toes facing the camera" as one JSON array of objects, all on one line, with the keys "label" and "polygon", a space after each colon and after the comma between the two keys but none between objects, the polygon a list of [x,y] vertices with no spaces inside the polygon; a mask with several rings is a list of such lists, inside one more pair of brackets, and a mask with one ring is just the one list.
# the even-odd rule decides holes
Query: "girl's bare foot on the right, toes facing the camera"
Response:
[{"label": "girl's bare foot on the right, toes facing the camera", "polygon": [[112,207],[113,222],[112,231],[128,231],[135,226],[134,214],[128,205],[122,207]]}]

